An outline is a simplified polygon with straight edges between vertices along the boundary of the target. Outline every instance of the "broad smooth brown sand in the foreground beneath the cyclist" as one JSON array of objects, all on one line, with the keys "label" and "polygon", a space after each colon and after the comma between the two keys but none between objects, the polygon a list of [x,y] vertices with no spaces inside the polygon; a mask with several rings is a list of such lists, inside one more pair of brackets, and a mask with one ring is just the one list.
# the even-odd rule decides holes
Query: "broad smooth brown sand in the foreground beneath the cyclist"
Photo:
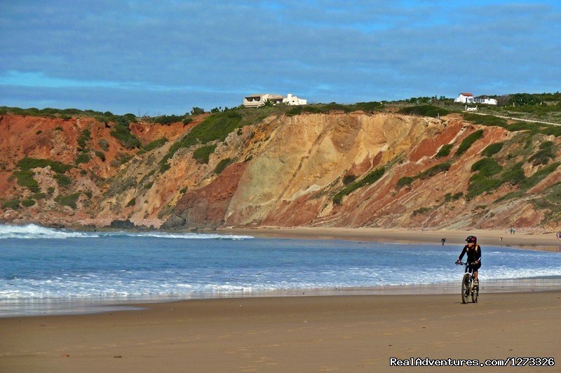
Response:
[{"label": "broad smooth brown sand in the foreground beneath the cyclist", "polygon": [[[439,372],[391,358],[555,358],[561,291],[188,300],[142,311],[0,318],[0,372]],[[463,370],[478,368],[463,368]]]}]

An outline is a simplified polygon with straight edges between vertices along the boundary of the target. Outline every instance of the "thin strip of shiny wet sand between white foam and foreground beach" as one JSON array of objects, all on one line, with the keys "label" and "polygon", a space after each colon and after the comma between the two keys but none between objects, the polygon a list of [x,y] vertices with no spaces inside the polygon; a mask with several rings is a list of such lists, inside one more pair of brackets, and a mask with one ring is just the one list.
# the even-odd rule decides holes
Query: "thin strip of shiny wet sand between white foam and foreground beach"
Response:
[{"label": "thin strip of shiny wet sand between white foam and foreground beach", "polygon": [[[278,290],[256,290],[231,293],[196,293],[182,296],[165,297],[117,297],[83,299],[39,299],[4,300],[0,302],[2,318],[21,318],[38,316],[71,316],[101,314],[117,311],[142,311],[151,304],[173,304],[205,300],[242,300],[252,298],[288,297],[349,297],[349,296],[415,296],[415,295],[459,295],[460,276],[457,282],[423,283],[419,285],[384,285],[343,288],[288,288]],[[561,277],[532,279],[492,279],[482,276],[482,294],[497,293],[536,293],[561,291]]]}]

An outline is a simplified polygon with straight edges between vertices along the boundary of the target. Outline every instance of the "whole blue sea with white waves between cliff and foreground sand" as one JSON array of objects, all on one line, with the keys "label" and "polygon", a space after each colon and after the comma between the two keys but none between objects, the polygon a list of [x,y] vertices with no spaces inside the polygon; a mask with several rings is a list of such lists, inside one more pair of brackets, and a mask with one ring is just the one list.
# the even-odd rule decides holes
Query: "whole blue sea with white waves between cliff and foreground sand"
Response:
[{"label": "whole blue sea with white waves between cliff and foreground sand", "polygon": [[[561,287],[561,253],[480,244],[482,284],[541,279]],[[127,302],[450,285],[463,272],[454,265],[460,251],[440,243],[0,225],[0,317],[103,311]]]}]

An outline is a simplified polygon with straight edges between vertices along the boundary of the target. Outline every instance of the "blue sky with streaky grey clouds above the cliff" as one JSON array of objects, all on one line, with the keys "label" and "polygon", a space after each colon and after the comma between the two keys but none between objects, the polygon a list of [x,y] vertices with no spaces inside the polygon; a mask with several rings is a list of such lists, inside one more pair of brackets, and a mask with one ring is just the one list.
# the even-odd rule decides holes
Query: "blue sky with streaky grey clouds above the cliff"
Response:
[{"label": "blue sky with streaky grey clouds above the cliff", "polygon": [[0,106],[183,114],[561,90],[561,1],[1,0]]}]

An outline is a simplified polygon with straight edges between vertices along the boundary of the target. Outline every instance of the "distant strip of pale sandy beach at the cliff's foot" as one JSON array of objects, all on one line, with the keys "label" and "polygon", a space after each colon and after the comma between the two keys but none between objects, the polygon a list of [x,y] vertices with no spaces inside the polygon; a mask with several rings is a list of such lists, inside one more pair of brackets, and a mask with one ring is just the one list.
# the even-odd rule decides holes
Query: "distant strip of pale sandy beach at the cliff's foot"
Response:
[{"label": "distant strip of pale sandy beach at the cliff's foot", "polygon": [[[285,237],[304,239],[349,239],[361,241],[400,242],[406,244],[464,245],[466,237],[478,237],[478,243],[487,246],[506,246],[561,253],[561,240],[555,232],[541,233],[531,230],[404,230],[385,228],[337,228],[337,227],[259,227],[253,229],[223,228],[219,232],[250,234],[258,237]],[[501,239],[502,238],[502,239]]]}]

